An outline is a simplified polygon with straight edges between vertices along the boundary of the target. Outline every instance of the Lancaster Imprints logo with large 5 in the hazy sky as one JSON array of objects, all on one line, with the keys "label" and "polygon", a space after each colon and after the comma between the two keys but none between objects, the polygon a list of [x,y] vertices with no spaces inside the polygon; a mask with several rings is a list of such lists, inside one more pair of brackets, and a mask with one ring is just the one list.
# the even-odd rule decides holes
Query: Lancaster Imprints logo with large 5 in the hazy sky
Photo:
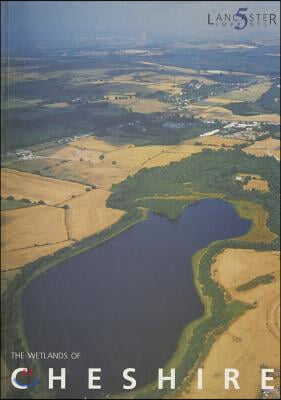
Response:
[{"label": "Lancaster Imprints logo with large 5 in the hazy sky", "polygon": [[230,26],[239,31],[254,27],[266,28],[277,24],[277,14],[253,13],[249,7],[240,7],[235,13],[208,14],[208,25]]}]

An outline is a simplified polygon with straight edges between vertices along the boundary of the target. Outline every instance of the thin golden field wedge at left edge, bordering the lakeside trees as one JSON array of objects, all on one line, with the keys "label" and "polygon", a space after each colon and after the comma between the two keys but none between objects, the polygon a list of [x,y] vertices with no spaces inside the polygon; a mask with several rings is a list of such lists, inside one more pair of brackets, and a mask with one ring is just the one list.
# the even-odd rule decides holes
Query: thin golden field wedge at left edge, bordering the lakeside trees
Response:
[{"label": "thin golden field wedge at left edge, bordering the lakeside trees", "polygon": [[[66,240],[57,244],[30,247],[28,249],[13,250],[10,253],[1,252],[1,272],[12,271],[23,267],[25,264],[37,260],[40,257],[55,253],[63,247],[70,246],[72,240]],[[8,273],[8,272],[7,272]],[[5,274],[6,275],[6,274]]]}]

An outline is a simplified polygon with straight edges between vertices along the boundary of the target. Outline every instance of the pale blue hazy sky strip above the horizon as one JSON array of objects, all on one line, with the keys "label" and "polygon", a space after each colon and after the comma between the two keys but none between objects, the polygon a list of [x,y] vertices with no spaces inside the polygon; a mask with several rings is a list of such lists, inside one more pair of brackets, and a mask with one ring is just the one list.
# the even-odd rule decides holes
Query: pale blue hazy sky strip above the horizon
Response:
[{"label": "pale blue hazy sky strip above the horizon", "polygon": [[[96,1],[4,1],[1,31],[9,45],[56,38],[127,36],[157,40],[272,40],[279,37],[280,4],[277,1],[210,2],[96,2]],[[235,13],[247,7],[249,13],[275,13],[277,25],[247,27],[208,25],[212,16]]]}]

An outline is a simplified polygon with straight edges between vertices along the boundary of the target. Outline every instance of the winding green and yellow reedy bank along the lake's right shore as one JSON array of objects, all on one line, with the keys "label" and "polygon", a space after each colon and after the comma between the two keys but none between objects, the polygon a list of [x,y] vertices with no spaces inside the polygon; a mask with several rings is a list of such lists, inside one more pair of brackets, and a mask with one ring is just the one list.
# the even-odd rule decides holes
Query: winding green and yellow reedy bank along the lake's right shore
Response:
[{"label": "winding green and yellow reedy bank along the lake's right shore", "polygon": [[[203,195],[203,194],[202,194]],[[223,197],[222,195],[220,197]],[[206,198],[210,198],[207,196]],[[212,279],[211,268],[216,257],[226,248],[247,248],[256,251],[276,250],[279,248],[276,238],[267,227],[267,213],[261,206],[243,201],[230,200],[241,218],[252,220],[252,226],[246,235],[238,238],[212,242],[208,247],[199,250],[192,259],[194,285],[204,305],[201,318],[188,324],[178,341],[177,349],[164,368],[169,375],[175,368],[176,390],[157,388],[157,382],[147,385],[135,392],[112,396],[111,398],[161,399],[178,398],[186,391],[196,375],[202,361],[206,358],[212,345],[228,327],[253,306],[240,301],[226,302],[226,290]],[[257,213],[257,210],[259,211]],[[263,222],[263,224],[262,224]],[[264,239],[267,243],[264,242]],[[260,241],[260,242],[259,242]],[[168,385],[167,385],[168,386]]]}]

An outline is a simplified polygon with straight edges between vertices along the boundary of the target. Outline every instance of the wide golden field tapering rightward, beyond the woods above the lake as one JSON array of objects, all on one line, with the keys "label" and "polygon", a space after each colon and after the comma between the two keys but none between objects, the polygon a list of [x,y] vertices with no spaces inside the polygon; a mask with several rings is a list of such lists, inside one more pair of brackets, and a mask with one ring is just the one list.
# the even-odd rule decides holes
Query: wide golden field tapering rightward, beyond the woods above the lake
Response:
[{"label": "wide golden field tapering rightward, beyond the woods above the lake", "polygon": [[[201,143],[201,146],[195,143]],[[48,150],[44,162],[52,160],[53,157],[60,162],[42,171],[42,174],[61,180],[94,184],[100,189],[110,189],[112,184],[124,180],[143,167],[168,165],[204,148],[217,150],[223,144],[232,147],[240,143],[244,141],[212,136],[187,140],[175,146],[134,146],[114,145],[92,136]],[[101,155],[103,159],[100,159]],[[22,164],[24,165],[24,162]]]}]

